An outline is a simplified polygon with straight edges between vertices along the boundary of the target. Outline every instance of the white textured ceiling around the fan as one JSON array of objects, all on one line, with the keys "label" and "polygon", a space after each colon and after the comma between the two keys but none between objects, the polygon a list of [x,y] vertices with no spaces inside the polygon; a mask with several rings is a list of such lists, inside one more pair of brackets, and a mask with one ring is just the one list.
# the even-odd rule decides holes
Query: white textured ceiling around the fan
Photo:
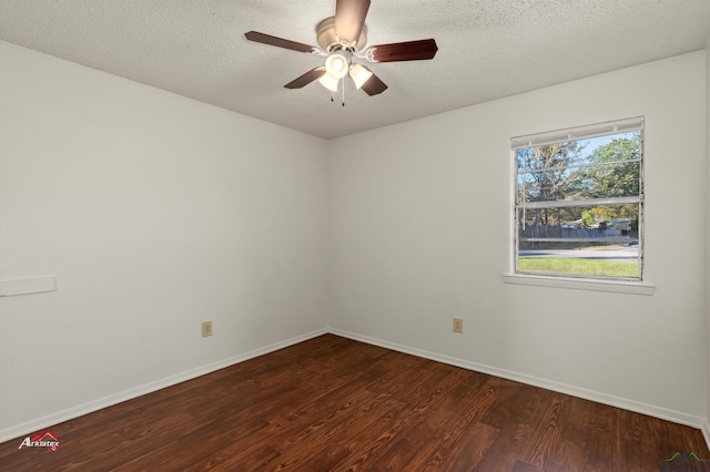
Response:
[{"label": "white textured ceiling around the fan", "polygon": [[[432,61],[367,64],[389,89],[284,84],[323,58],[335,0],[0,0],[0,40],[333,138],[703,49],[710,0],[372,0],[368,44],[435,38]],[[339,98],[339,96],[338,96]]]}]

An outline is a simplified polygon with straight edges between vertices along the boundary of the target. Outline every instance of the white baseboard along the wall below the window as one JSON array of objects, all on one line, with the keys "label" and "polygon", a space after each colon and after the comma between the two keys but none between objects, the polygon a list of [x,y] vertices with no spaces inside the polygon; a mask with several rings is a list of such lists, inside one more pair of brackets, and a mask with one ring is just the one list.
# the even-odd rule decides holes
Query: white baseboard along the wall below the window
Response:
[{"label": "white baseboard along the wall below the window", "polygon": [[477,362],[470,362],[468,360],[443,356],[435,352],[425,351],[422,349],[410,348],[408,346],[402,346],[395,342],[371,338],[367,336],[343,331],[339,329],[328,328],[328,331],[332,332],[333,335],[354,339],[356,341],[366,342],[368,345],[379,346],[383,348],[409,353],[409,355],[422,357],[425,359],[448,363],[450,366],[474,370],[476,372],[488,373],[490,376],[501,377],[504,379],[514,380],[516,382],[526,383],[534,387],[540,387],[546,390],[552,390],[559,393],[566,393],[572,397],[582,398],[585,400],[596,401],[597,403],[604,403],[610,407],[617,407],[617,408],[633,411],[637,413],[648,414],[649,417],[659,418],[661,420],[672,421],[674,423],[698,428],[703,432],[706,442],[708,442],[708,445],[710,447],[710,441],[708,441],[708,439],[710,438],[710,429],[708,428],[708,420],[704,418],[694,417],[692,414],[687,414],[680,411],[669,410],[662,407],[656,407],[652,404],[647,404],[647,403],[642,403],[635,400],[615,397],[607,393],[600,393],[592,390],[569,386],[566,383],[555,382],[552,380],[540,379],[537,377],[528,376],[526,373],[514,372],[505,369],[498,369],[496,367],[490,367],[490,366],[486,366]]}]

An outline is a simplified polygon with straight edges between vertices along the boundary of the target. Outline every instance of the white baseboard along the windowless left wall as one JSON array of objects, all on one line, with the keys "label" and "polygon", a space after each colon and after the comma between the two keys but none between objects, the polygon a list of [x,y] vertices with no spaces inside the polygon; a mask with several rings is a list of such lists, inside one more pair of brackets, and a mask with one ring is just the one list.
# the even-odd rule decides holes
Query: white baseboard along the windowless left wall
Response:
[{"label": "white baseboard along the windowless left wall", "polygon": [[248,359],[253,359],[258,356],[263,356],[268,352],[276,351],[278,349],[286,348],[288,346],[297,345],[298,342],[306,341],[327,334],[327,329],[318,329],[316,331],[308,332],[306,335],[297,336],[295,338],[286,339],[284,341],[275,342],[263,348],[254,349],[248,352],[244,352],[239,356],[234,356],[227,359],[223,359],[216,362],[209,363],[206,366],[197,367],[195,369],[187,370],[185,372],[176,373],[174,376],[165,377],[154,382],[145,383],[129,390],[124,390],[119,393],[110,394],[97,400],[92,400],[82,404],[78,404],[72,408],[68,408],[57,413],[48,414],[36,420],[31,420],[21,424],[16,424],[10,428],[0,430],[0,442],[6,442],[14,438],[21,438],[40,430],[44,430],[54,424],[62,423],[64,421],[72,420],[74,418],[82,417],[88,413],[101,410],[106,407],[111,407],[121,403],[126,400],[144,396],[146,393],[154,392],[156,390],[164,389],[166,387],[174,386],[185,380],[195,379],[204,376],[205,373],[214,372],[215,370],[224,369],[225,367],[234,366],[235,363],[243,362]]}]

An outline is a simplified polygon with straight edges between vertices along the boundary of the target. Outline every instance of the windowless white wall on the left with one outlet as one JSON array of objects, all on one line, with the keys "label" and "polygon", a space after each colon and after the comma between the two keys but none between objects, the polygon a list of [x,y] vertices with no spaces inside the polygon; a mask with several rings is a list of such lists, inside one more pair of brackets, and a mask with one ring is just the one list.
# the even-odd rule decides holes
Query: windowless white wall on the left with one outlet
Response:
[{"label": "windowless white wall on the left with one outlet", "polygon": [[0,42],[0,441],[322,331],[325,144]]}]

